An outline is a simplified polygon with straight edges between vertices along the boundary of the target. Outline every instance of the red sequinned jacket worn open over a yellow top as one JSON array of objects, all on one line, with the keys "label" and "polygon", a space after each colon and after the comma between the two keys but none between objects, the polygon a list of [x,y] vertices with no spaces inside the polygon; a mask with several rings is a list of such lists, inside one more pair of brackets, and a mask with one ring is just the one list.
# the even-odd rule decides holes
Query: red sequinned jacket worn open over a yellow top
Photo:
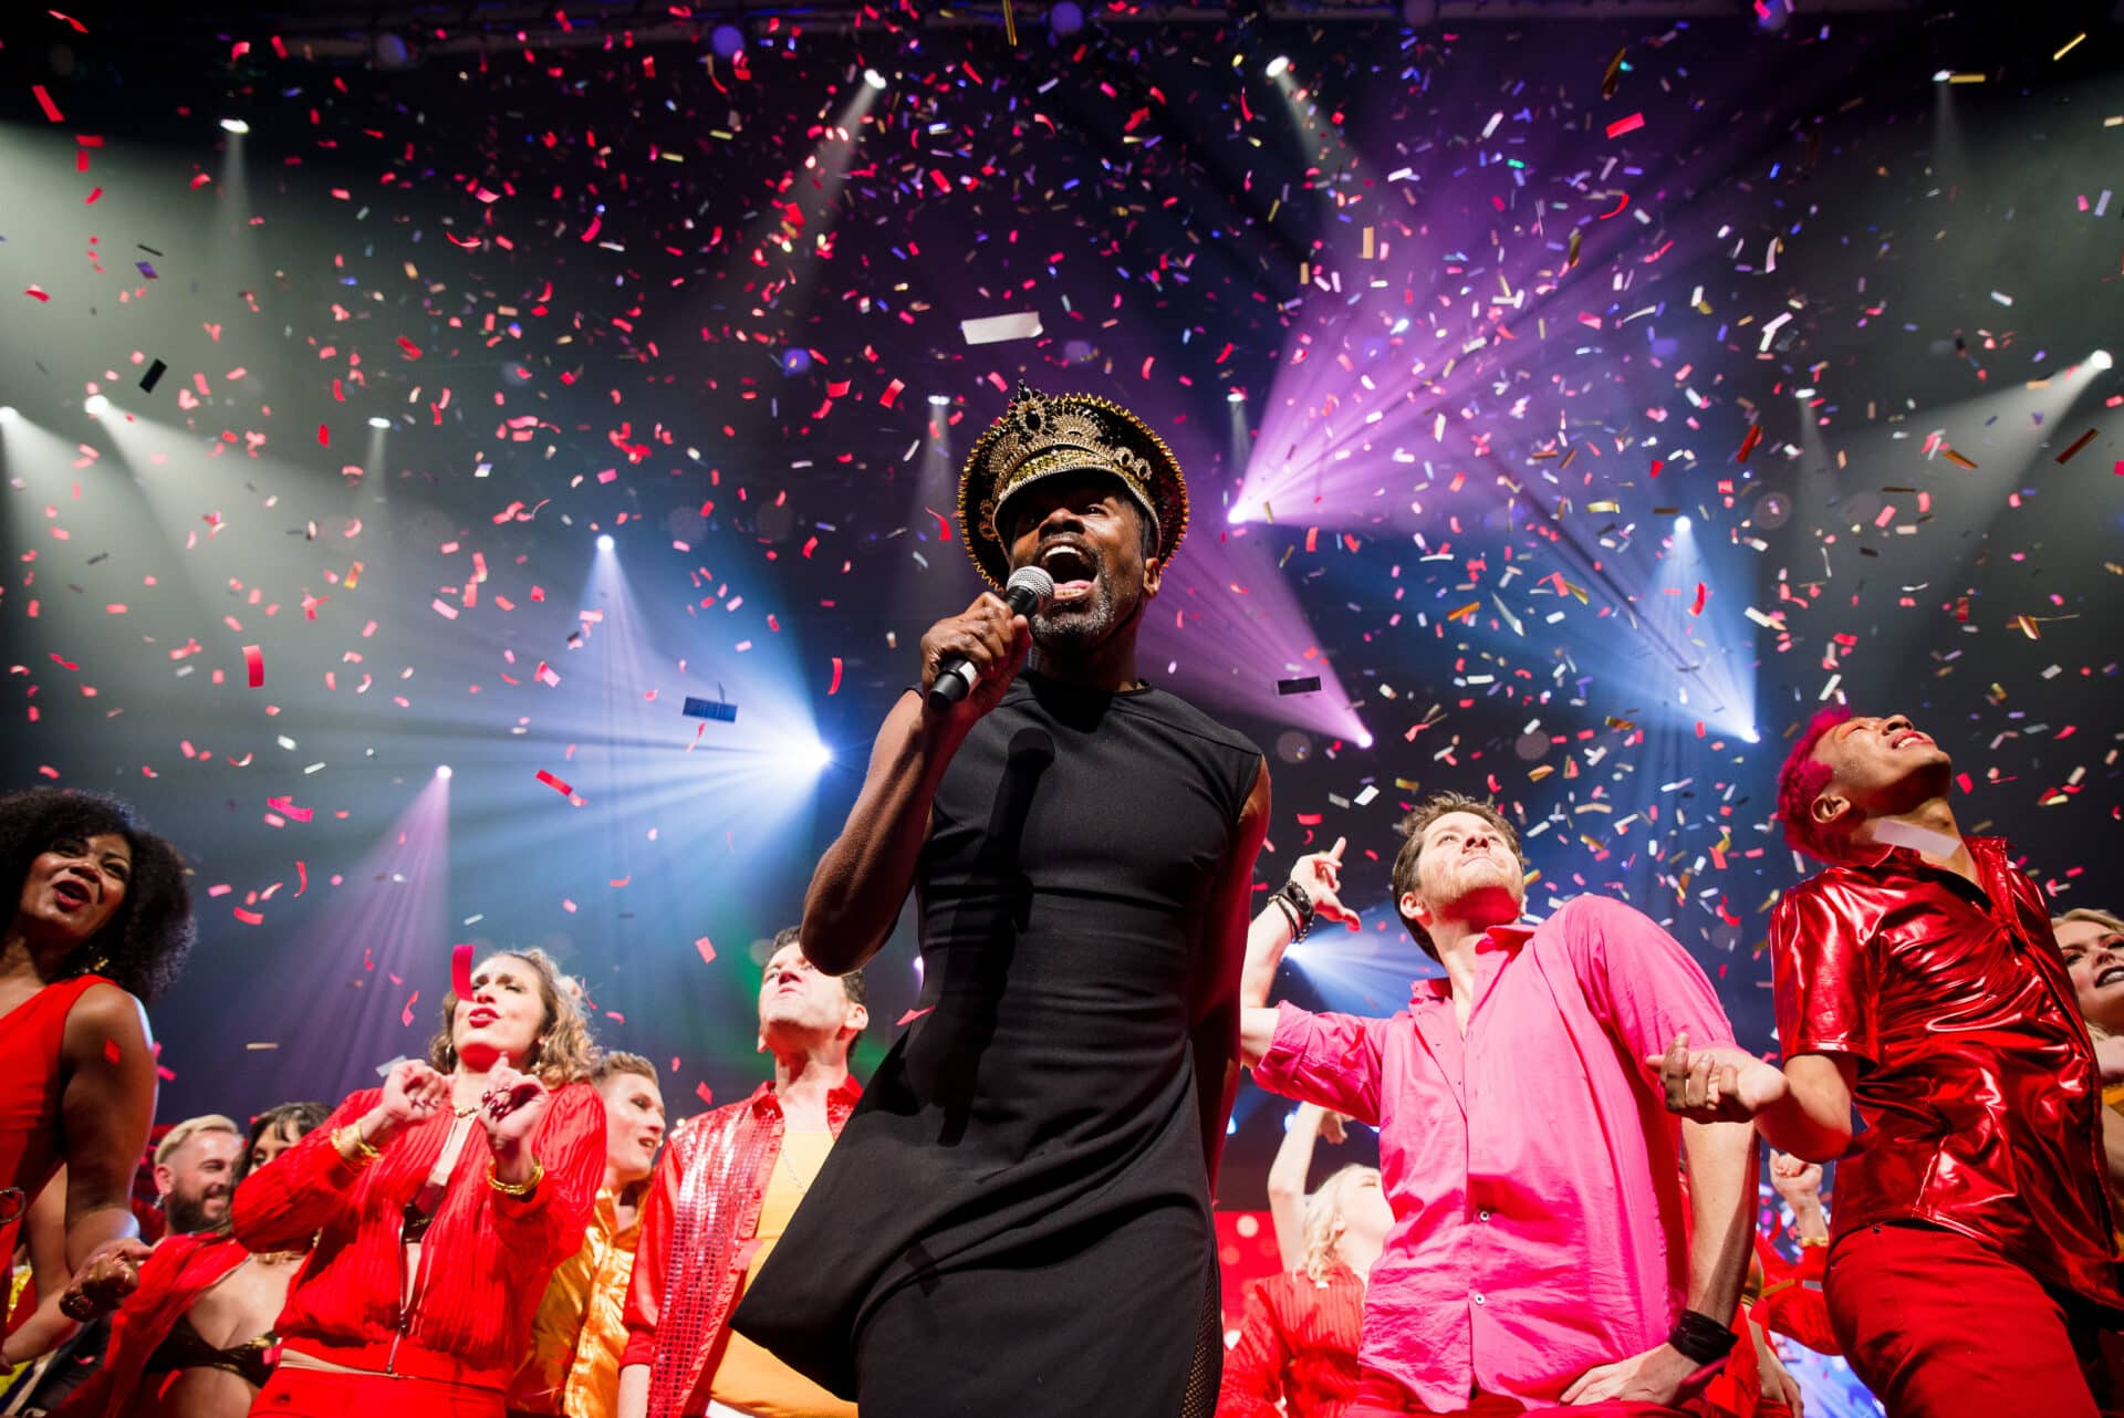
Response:
[{"label": "red sequinned jacket worn open over a yellow top", "polygon": [[[835,1138],[862,1097],[850,1074],[826,1095]],[[627,1284],[627,1350],[620,1367],[650,1367],[650,1418],[699,1414],[752,1265],[767,1182],[782,1157],[782,1100],[763,1083],[750,1097],[671,1129],[648,1195]],[[690,1223],[688,1223],[690,1218]]]}]

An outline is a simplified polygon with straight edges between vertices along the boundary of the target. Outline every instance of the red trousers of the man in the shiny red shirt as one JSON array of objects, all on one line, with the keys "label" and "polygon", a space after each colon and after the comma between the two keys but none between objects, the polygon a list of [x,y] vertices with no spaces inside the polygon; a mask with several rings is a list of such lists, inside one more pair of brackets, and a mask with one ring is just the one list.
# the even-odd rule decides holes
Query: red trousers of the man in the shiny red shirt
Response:
[{"label": "red trousers of the man in the shiny red shirt", "polygon": [[1842,1235],[1825,1289],[1844,1356],[1888,1418],[2124,1414],[2116,1316],[2043,1289],[1960,1231]]}]

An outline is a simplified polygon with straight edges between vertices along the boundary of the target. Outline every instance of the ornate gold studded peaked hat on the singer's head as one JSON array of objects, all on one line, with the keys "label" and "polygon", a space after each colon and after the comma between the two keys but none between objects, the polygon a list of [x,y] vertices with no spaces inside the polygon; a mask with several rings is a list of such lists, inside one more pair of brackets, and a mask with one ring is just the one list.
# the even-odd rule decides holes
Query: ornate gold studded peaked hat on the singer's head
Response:
[{"label": "ornate gold studded peaked hat on the singer's head", "polygon": [[1111,473],[1158,529],[1158,558],[1172,560],[1187,535],[1187,480],[1147,422],[1096,395],[1043,395],[1024,380],[988,425],[958,475],[958,526],[981,577],[1003,590],[1011,575],[996,518],[1043,478]]}]

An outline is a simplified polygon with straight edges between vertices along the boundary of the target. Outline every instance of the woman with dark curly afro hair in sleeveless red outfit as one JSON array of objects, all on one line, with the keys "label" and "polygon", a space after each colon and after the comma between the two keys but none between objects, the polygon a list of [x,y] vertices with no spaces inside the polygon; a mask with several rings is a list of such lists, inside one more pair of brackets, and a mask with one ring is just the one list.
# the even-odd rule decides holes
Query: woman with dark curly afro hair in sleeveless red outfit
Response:
[{"label": "woman with dark curly afro hair in sleeveless red outfit", "polygon": [[[0,1255],[30,1199],[66,1168],[66,1265],[147,1257],[132,1176],[155,1117],[142,1002],[191,949],[176,849],[132,807],[51,788],[0,796]],[[130,1284],[130,1267],[115,1267]]]}]

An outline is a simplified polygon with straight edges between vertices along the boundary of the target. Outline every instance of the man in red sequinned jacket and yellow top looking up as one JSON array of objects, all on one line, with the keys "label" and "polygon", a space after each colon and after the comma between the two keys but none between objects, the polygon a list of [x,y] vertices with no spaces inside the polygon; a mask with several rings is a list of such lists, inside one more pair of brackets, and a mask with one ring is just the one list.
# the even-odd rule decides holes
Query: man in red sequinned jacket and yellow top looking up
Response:
[{"label": "man in red sequinned jacket and yellow top looking up", "polygon": [[854,1418],[852,1403],[731,1333],[737,1297],[775,1250],[862,1085],[847,1055],[871,1013],[862,972],[822,974],[782,930],[760,974],[760,1053],[775,1074],[750,1097],[680,1123],[641,1206],[627,1289],[620,1418]]}]

